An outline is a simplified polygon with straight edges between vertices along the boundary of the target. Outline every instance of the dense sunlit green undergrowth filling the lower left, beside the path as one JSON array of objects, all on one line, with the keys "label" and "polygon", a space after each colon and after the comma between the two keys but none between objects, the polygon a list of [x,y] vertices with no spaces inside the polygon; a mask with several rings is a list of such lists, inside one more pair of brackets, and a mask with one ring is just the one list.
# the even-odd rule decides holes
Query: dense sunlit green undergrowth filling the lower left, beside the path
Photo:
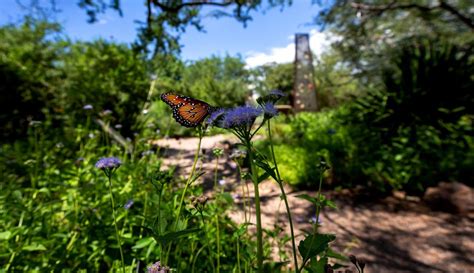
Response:
[{"label": "dense sunlit green undergrowth filling the lower left, beside the path", "polygon": [[[0,148],[7,160],[0,167],[0,261],[7,271],[104,272],[114,267],[120,255],[110,224],[109,185],[94,167],[108,154],[119,155],[123,161],[114,172],[112,185],[127,264],[144,268],[160,257],[163,250],[151,232],[157,220],[162,240],[180,244],[172,250],[170,264],[187,269],[193,264],[196,272],[214,266],[209,258],[215,252],[216,232],[221,233],[222,251],[227,253],[222,268],[235,263],[235,244],[244,235],[239,235],[238,227],[227,217],[218,218],[220,231],[207,224],[216,220],[212,215],[224,215],[232,205],[230,195],[217,192],[202,215],[189,203],[183,211],[186,220],[179,223],[181,235],[172,234],[174,198],[182,192],[182,181],[173,179],[172,169],[161,169],[159,152],[152,150],[147,139],[139,138],[133,153],[127,155],[119,145],[103,145],[106,135],[88,128],[86,122],[77,126],[71,132],[73,142],[48,139],[44,134],[48,126],[35,124],[27,143]],[[189,193],[200,196],[202,188],[193,187]],[[186,240],[181,239],[184,235]],[[206,244],[203,236],[208,236]],[[241,246],[242,259],[250,255],[247,247],[251,246]]]}]

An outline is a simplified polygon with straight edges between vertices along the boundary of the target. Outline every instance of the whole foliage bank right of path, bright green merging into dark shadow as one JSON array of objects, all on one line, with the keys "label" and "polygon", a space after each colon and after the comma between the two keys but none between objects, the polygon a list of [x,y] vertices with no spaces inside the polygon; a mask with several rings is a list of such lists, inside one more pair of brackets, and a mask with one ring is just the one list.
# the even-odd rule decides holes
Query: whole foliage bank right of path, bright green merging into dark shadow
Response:
[{"label": "whole foliage bank right of path, bright green merging into dark shadow", "polygon": [[333,166],[334,186],[421,193],[441,180],[472,181],[472,48],[420,38],[391,56],[382,84],[337,110],[298,114],[276,132],[289,183],[314,185],[320,155]]}]

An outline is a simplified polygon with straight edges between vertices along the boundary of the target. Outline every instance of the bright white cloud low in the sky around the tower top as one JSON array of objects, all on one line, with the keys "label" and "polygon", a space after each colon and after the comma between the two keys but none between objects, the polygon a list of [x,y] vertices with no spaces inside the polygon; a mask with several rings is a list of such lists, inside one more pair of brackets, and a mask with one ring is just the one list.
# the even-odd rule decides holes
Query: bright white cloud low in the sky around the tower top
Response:
[{"label": "bright white cloud low in the sky around the tower top", "polygon": [[[290,36],[291,43],[285,47],[274,47],[270,52],[249,52],[245,62],[247,68],[254,68],[267,63],[289,63],[295,59],[294,35]],[[328,33],[311,30],[309,33],[309,45],[316,55],[321,55],[329,46],[331,37]]]}]

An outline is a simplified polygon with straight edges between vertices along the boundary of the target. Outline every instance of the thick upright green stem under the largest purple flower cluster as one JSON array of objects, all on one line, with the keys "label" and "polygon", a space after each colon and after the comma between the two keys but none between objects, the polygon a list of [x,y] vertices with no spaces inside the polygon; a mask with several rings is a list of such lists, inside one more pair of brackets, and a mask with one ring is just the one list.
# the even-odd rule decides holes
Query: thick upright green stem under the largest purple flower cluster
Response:
[{"label": "thick upright green stem under the largest purple flower cluster", "polygon": [[252,182],[254,185],[255,191],[255,216],[257,218],[257,272],[263,272],[263,232],[262,232],[262,217],[260,212],[260,193],[258,190],[258,173],[255,163],[253,162],[253,152],[252,144],[250,141],[246,143],[249,161],[250,161],[250,170],[252,174]]}]

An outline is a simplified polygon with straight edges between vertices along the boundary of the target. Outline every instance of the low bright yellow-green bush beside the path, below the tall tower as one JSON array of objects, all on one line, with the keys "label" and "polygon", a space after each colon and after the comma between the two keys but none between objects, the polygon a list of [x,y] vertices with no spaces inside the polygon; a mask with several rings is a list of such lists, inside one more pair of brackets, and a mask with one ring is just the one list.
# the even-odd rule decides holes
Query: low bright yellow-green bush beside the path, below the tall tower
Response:
[{"label": "low bright yellow-green bush beside the path, below the tall tower", "polygon": [[[357,162],[352,160],[354,145],[339,118],[343,111],[344,107],[299,113],[288,125],[275,127],[275,153],[286,182],[298,187],[316,187],[321,157],[331,166],[325,177],[329,184],[350,186],[360,178],[358,168],[354,167]],[[260,145],[267,143],[263,141]]]}]

